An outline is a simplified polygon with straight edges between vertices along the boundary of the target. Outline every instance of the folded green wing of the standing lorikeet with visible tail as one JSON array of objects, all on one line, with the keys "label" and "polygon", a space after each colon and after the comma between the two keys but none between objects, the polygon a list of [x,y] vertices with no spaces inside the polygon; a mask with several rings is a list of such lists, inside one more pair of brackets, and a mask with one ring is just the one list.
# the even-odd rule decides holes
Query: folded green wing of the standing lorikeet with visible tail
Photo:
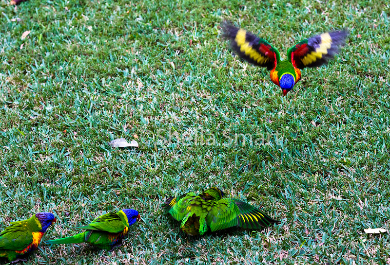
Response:
[{"label": "folded green wing of the standing lorikeet with visible tail", "polygon": [[115,212],[103,214],[92,221],[88,226],[75,227],[75,229],[106,231],[110,233],[119,233],[125,230],[119,215]]}]

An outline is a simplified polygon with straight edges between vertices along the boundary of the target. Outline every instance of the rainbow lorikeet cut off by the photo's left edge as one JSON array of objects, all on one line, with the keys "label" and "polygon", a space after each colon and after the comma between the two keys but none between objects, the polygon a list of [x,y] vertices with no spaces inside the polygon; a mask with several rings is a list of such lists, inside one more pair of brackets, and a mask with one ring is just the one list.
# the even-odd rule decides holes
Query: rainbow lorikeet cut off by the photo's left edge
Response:
[{"label": "rainbow lorikeet cut off by the photo's left edge", "polygon": [[56,221],[53,213],[38,212],[27,220],[11,222],[0,232],[0,257],[10,262],[20,260],[20,256],[38,248],[42,236]]}]

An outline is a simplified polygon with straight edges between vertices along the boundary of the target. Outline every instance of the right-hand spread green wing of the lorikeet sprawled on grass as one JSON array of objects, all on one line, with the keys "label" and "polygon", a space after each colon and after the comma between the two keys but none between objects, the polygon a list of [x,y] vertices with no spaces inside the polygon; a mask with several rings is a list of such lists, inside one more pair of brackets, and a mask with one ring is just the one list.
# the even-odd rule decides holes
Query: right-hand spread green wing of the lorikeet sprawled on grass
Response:
[{"label": "right-hand spread green wing of the lorikeet sprawled on grass", "polygon": [[234,226],[259,229],[277,221],[252,205],[237,199],[221,199],[206,216],[207,224],[212,231]]}]

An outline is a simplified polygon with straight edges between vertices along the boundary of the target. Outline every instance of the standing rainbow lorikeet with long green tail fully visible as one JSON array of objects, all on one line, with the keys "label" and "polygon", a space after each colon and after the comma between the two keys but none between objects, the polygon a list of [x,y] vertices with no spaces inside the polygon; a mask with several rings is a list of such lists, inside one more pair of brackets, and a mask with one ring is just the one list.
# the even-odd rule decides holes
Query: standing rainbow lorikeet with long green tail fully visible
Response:
[{"label": "standing rainbow lorikeet with long green tail fully visible", "polygon": [[74,236],[45,241],[46,244],[77,244],[89,243],[98,248],[111,250],[121,245],[124,235],[131,225],[140,218],[133,209],[124,209],[119,212],[108,212],[97,217],[87,226],[75,229],[86,230]]}]

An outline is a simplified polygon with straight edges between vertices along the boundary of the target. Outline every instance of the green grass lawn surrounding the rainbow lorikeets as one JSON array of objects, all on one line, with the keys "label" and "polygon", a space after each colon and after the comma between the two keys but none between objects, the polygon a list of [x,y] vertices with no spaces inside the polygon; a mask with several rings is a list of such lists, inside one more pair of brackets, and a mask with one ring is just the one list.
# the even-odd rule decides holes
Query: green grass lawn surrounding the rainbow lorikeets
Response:
[{"label": "green grass lawn surrounding the rainbow lorikeets", "polygon": [[[0,0],[0,230],[51,211],[53,239],[135,208],[124,246],[42,243],[25,264],[389,264],[388,234],[363,231],[390,228],[389,17],[386,0]],[[224,19],[283,57],[350,36],[282,97]],[[281,223],[186,237],[161,205],[211,186]]]}]

